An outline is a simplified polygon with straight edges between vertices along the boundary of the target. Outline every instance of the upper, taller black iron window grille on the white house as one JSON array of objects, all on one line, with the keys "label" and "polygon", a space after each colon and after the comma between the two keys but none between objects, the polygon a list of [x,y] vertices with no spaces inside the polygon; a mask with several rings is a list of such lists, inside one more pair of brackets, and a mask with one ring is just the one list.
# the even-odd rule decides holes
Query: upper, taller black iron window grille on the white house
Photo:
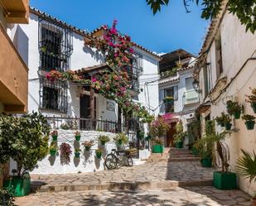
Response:
[{"label": "upper, taller black iron window grille on the white house", "polygon": [[73,51],[73,34],[69,26],[39,17],[38,47],[40,69],[64,71],[69,68]]}]

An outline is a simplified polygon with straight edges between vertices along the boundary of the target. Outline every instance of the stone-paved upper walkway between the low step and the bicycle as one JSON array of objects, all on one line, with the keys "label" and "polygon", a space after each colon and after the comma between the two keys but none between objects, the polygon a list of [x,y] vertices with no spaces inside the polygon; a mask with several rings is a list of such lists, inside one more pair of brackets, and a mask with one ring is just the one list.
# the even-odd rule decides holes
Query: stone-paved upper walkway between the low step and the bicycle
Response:
[{"label": "stone-paved upper walkway between the low step and the bicycle", "polygon": [[[76,186],[75,190],[107,189],[104,185],[122,183],[152,184],[166,180],[179,182],[210,181],[214,170],[214,168],[202,168],[199,162],[194,161],[154,162],[133,167],[122,167],[118,170],[104,170],[85,174],[32,175],[32,180],[34,184],[45,184],[41,187],[43,191],[74,190],[71,189],[72,185]],[[100,185],[101,187],[93,187],[93,185]],[[69,189],[66,189],[65,186],[69,187]]]}]

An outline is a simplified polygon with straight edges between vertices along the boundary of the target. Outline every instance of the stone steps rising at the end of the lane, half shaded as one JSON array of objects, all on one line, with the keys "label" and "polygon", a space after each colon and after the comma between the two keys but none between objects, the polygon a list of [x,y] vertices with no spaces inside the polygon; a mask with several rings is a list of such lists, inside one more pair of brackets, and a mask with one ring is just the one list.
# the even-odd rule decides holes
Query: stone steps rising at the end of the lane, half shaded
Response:
[{"label": "stone steps rising at the end of the lane, half shaded", "polygon": [[192,155],[187,149],[177,149],[174,147],[164,148],[162,154],[152,153],[147,162],[159,161],[199,161],[200,157]]}]

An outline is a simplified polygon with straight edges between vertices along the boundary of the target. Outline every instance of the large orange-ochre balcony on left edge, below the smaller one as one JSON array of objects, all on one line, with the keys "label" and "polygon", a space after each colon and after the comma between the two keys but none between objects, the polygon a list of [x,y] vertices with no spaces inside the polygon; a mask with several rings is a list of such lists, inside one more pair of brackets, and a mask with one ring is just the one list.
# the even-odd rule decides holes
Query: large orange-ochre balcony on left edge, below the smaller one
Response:
[{"label": "large orange-ochre balcony on left edge, below the smaller one", "polygon": [[27,65],[0,24],[0,102],[7,113],[27,111]]}]

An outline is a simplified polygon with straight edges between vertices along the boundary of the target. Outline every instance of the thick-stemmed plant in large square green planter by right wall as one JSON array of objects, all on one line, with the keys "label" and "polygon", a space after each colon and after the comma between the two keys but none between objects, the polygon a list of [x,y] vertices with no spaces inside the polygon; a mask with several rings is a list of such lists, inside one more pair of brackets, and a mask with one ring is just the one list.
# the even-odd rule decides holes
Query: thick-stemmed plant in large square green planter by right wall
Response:
[{"label": "thick-stemmed plant in large square green planter by right wall", "polygon": [[229,146],[223,141],[227,133],[212,135],[218,155],[216,162],[221,166],[221,170],[213,174],[213,185],[217,189],[237,189],[236,174],[229,171]]}]

